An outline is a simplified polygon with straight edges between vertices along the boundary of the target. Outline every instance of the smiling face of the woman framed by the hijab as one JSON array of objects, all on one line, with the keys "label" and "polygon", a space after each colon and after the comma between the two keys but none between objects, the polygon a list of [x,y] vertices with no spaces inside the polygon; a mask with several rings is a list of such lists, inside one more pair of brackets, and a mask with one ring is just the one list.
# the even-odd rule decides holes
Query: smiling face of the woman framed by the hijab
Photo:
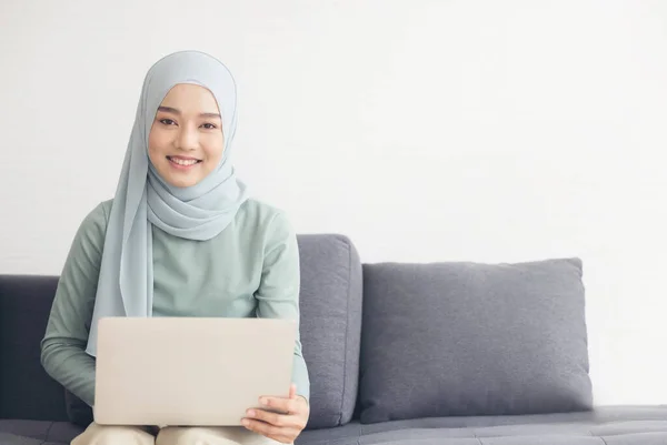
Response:
[{"label": "smiling face of the woman framed by the hijab", "polygon": [[160,104],[148,136],[148,156],[170,185],[192,186],[222,159],[222,120],[206,88],[179,83]]}]

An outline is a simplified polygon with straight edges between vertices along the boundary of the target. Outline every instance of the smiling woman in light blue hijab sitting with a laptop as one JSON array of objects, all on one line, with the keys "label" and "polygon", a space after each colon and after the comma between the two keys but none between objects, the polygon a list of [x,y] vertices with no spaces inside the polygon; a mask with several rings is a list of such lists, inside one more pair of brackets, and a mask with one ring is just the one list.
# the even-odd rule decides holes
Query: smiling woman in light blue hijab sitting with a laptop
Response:
[{"label": "smiling woman in light blue hijab sitting with a laptop", "polygon": [[[299,320],[296,234],[248,198],[230,163],[236,93],[227,68],[197,51],[146,75],[116,195],[74,236],[41,345],[47,372],[90,406],[100,317]],[[266,397],[271,412],[249,409],[245,428],[93,423],[72,444],[292,443],[309,416],[298,335],[292,381],[289,397]]]}]

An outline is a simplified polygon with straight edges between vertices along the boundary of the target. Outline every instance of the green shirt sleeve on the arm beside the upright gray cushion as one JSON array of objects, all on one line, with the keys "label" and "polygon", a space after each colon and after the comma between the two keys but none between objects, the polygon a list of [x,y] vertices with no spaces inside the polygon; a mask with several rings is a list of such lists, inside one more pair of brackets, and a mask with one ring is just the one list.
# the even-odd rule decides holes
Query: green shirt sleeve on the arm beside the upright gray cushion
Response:
[{"label": "green shirt sleeve on the arm beside the upright gray cushion", "polygon": [[288,318],[297,322],[292,383],[297,394],[310,398],[310,380],[300,340],[300,267],[297,235],[285,214],[278,213],[270,223],[265,242],[265,259],[259,289],[257,316]]}]

